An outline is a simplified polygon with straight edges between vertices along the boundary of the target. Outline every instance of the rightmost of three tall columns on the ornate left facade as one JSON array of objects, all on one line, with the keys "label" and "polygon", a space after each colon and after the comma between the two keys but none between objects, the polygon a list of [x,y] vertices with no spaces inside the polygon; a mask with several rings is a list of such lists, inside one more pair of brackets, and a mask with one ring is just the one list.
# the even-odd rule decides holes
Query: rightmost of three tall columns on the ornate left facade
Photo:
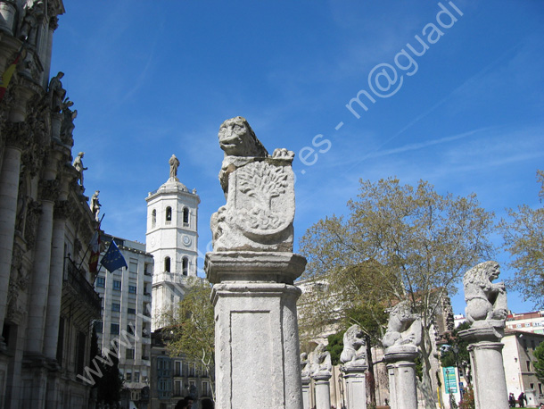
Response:
[{"label": "rightmost of three tall columns on the ornate left facade", "polygon": [[66,217],[70,212],[68,201],[57,202],[54,208],[51,272],[45,317],[44,354],[56,359],[62,300],[62,273],[64,271],[64,233]]}]

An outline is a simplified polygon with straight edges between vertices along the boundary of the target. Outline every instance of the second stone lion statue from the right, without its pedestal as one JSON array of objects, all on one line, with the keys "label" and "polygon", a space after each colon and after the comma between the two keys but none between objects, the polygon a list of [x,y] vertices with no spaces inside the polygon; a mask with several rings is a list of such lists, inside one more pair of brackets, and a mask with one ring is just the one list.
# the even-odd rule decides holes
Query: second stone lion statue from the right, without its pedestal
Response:
[{"label": "second stone lion statue from the right, without its pedestal", "polygon": [[416,346],[421,344],[422,328],[419,314],[412,313],[408,300],[401,301],[389,313],[383,347]]}]

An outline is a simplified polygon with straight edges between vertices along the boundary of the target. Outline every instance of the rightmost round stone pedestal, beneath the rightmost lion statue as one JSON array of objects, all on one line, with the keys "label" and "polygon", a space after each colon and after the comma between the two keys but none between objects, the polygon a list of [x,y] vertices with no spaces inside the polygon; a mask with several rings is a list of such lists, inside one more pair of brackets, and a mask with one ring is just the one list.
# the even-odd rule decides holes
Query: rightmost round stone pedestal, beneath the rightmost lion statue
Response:
[{"label": "rightmost round stone pedestal, beneath the rightmost lion statue", "polygon": [[471,328],[459,332],[469,342],[476,409],[507,409],[508,392],[502,348],[502,330],[493,327]]}]

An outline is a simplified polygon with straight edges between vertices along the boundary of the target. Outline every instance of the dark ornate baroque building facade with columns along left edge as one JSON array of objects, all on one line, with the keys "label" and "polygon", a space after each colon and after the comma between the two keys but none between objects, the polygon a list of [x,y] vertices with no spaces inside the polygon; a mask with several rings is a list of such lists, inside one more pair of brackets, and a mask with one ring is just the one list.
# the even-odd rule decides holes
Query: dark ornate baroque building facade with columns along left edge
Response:
[{"label": "dark ornate baroque building facade with columns along left edge", "polygon": [[[88,271],[96,230],[71,163],[76,113],[50,80],[62,0],[0,1],[0,407],[84,408],[90,326],[100,298]],[[11,80],[10,80],[11,79]],[[79,183],[78,183],[79,181]]]}]

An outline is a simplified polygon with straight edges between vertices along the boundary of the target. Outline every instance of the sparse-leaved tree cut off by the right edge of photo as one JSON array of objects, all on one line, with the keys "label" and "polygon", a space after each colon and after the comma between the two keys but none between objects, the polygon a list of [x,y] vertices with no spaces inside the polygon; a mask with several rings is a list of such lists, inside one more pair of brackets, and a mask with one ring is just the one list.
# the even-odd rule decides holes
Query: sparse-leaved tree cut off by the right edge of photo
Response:
[{"label": "sparse-leaved tree cut off by the right edge of photo", "polygon": [[[537,171],[541,184],[540,202],[544,198],[544,171]],[[544,307],[544,208],[532,209],[520,205],[517,212],[507,209],[510,221],[501,220],[507,251],[513,261],[509,266],[515,270],[515,277],[508,284],[520,291],[526,300],[532,300],[535,307]]]}]

